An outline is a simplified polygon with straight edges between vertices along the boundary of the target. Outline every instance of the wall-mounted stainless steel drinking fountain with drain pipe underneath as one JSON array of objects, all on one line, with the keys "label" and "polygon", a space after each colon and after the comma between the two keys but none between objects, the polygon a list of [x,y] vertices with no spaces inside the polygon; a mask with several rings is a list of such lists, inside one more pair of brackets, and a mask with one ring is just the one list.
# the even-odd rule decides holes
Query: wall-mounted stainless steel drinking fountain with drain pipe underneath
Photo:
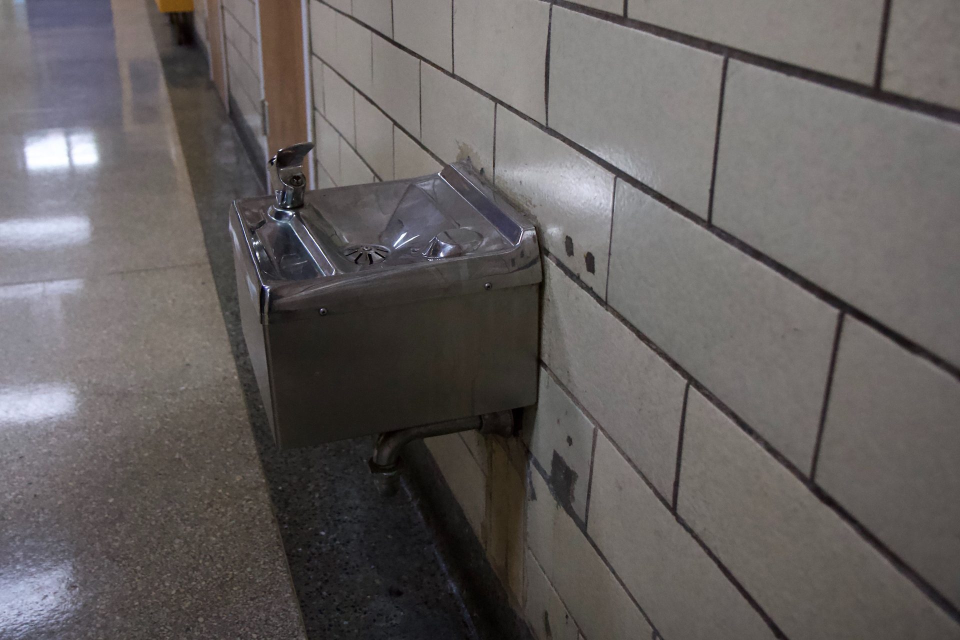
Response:
[{"label": "wall-mounted stainless steel drinking fountain with drain pipe underneath", "polygon": [[276,444],[381,434],[390,490],[410,439],[511,433],[536,402],[537,231],[468,164],[305,191],[312,147],[271,160],[273,197],[233,202],[244,338]]}]

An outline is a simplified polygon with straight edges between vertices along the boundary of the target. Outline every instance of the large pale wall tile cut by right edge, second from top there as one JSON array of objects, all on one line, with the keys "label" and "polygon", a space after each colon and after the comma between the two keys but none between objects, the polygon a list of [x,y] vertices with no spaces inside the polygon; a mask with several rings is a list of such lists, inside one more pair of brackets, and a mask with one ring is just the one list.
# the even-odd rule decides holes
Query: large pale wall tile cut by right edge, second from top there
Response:
[{"label": "large pale wall tile cut by right edge, second from top there", "polygon": [[713,220],[960,363],[958,167],[960,125],[731,62]]}]

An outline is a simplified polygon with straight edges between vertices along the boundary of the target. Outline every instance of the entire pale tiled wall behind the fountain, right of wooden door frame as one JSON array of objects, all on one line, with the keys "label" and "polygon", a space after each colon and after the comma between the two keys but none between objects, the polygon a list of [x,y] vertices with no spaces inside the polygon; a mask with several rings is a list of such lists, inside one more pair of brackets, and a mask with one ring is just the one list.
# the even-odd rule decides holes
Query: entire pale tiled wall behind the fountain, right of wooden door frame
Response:
[{"label": "entire pale tiled wall behind the fountain, right of wooden door frame", "polygon": [[309,2],[320,186],[539,222],[522,443],[427,444],[540,638],[960,638],[957,6],[779,4]]}]

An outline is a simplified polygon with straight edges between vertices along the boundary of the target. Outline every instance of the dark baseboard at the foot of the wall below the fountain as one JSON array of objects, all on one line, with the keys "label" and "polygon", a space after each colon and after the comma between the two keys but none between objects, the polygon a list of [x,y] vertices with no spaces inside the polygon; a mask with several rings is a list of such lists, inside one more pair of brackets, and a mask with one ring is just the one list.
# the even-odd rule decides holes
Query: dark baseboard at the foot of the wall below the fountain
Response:
[{"label": "dark baseboard at the foot of the wall below the fountain", "polygon": [[403,475],[414,503],[437,539],[450,579],[460,591],[480,638],[533,640],[530,629],[510,604],[467,515],[444,482],[422,440],[403,449]]}]

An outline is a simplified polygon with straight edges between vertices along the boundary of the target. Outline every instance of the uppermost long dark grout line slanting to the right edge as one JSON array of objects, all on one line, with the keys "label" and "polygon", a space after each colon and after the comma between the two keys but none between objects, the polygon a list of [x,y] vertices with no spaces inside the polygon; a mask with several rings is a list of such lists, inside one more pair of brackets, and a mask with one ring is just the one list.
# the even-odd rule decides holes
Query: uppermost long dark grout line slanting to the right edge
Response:
[{"label": "uppermost long dark grout line slanting to the right edge", "polygon": [[907,98],[905,96],[900,96],[896,93],[891,93],[889,91],[884,91],[877,89],[872,83],[864,84],[857,83],[852,80],[847,80],[845,78],[840,78],[839,76],[832,76],[828,73],[822,71],[814,71],[813,69],[807,69],[806,67],[799,66],[797,64],[792,64],[790,62],[783,62],[778,59],[766,58],[758,54],[751,53],[749,51],[744,51],[743,49],[737,49],[726,44],[720,44],[718,42],[713,42],[711,40],[704,39],[697,36],[689,36],[682,32],[674,31],[672,29],[666,29],[658,25],[642,22],[634,18],[627,18],[623,16],[616,15],[615,13],[602,12],[596,9],[589,7],[584,7],[582,5],[573,4],[568,0],[538,0],[539,2],[552,2],[558,7],[565,9],[570,12],[581,13],[583,15],[588,15],[593,18],[604,20],[605,22],[610,22],[612,24],[617,24],[622,27],[627,27],[629,29],[634,29],[652,36],[659,36],[667,40],[678,42],[680,44],[685,44],[686,46],[692,47],[694,49],[700,49],[701,51],[707,51],[708,53],[717,54],[718,56],[725,56],[731,59],[735,59],[741,62],[747,62],[749,64],[754,64],[764,69],[769,69],[771,71],[777,71],[786,76],[792,78],[798,78],[800,80],[805,80],[810,83],[817,83],[828,86],[830,88],[838,89],[846,93],[852,93],[857,96],[862,96],[866,98],[872,98],[877,102],[891,105],[893,107],[900,107],[910,111],[917,111],[924,113],[925,115],[932,116],[934,118],[940,118],[942,120],[947,120],[948,122],[960,122],[960,109],[953,107],[944,107],[943,105],[936,105],[933,103],[924,102],[923,100],[917,100],[914,98]]}]

